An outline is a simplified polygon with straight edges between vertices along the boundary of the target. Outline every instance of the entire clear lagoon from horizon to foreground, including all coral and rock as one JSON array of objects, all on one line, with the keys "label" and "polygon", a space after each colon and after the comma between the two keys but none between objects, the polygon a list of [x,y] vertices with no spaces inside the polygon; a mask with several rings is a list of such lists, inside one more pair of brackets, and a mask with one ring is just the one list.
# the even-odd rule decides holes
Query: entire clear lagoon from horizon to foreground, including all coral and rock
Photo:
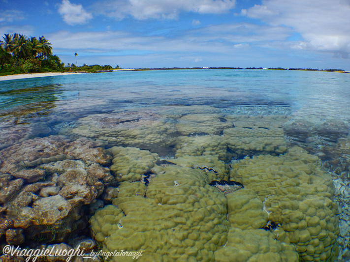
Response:
[{"label": "entire clear lagoon from horizon to foreground, including all coral and rock", "polygon": [[[84,262],[349,261],[349,131],[346,73],[1,81],[0,249],[114,252]],[[0,251],[11,259],[20,254]]]}]

